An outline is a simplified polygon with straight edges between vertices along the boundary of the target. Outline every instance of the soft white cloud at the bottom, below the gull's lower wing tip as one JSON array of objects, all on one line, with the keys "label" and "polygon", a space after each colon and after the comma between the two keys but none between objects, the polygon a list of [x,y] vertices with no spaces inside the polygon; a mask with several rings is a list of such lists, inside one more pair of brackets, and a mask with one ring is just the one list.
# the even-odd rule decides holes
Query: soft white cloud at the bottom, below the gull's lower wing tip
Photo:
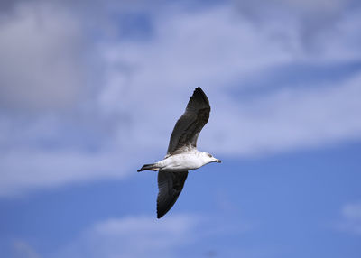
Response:
[{"label": "soft white cloud at the bottom, below the gull's lower wing tip", "polygon": [[[192,250],[188,253],[197,257],[209,249],[198,246],[199,242],[222,235],[246,234],[252,228],[239,217],[231,220],[180,214],[159,220],[147,216],[109,218],[69,240],[69,245],[55,257],[183,257],[181,253],[186,250]],[[239,249],[235,252],[241,253]]]}]

